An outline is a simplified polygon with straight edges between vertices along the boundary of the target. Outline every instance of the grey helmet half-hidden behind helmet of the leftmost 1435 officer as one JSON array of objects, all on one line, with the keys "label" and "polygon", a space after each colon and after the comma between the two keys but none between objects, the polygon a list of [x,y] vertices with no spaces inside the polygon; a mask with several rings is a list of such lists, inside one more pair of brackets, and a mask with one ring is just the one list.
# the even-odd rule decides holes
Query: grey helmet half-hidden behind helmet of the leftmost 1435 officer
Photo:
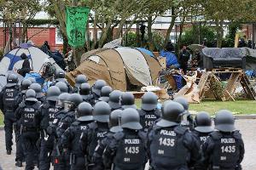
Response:
[{"label": "grey helmet half-hidden behind helmet of the leftmost 1435 officer", "polygon": [[122,116],[122,112],[123,111],[121,111],[121,110],[115,110],[110,113],[109,122],[108,122],[108,125],[110,127],[110,129],[109,129],[110,132],[117,133],[117,132],[120,132],[123,130],[119,124],[119,120]]}]

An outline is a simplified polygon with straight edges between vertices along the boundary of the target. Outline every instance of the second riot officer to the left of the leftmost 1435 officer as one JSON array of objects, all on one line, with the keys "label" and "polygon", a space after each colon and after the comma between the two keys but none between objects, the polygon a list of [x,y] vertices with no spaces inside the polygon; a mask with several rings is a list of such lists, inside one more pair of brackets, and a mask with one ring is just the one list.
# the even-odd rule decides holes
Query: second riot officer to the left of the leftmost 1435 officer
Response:
[{"label": "second riot officer to the left of the leftmost 1435 officer", "polygon": [[87,157],[89,167],[93,166],[92,156],[97,144],[108,133],[108,118],[111,109],[108,103],[99,101],[96,103],[93,111],[93,119],[95,122],[88,124],[88,128],[84,130],[80,139],[80,146],[83,150],[84,156]]}]

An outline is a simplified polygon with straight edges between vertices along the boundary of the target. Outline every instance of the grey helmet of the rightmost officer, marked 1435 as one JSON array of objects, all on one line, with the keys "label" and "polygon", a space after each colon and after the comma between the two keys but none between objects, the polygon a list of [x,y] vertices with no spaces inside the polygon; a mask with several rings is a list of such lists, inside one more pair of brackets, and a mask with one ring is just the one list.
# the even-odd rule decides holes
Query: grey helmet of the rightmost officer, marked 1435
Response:
[{"label": "grey helmet of the rightmost officer, marked 1435", "polygon": [[233,132],[236,130],[235,117],[230,111],[218,111],[214,120],[215,128],[221,132]]}]

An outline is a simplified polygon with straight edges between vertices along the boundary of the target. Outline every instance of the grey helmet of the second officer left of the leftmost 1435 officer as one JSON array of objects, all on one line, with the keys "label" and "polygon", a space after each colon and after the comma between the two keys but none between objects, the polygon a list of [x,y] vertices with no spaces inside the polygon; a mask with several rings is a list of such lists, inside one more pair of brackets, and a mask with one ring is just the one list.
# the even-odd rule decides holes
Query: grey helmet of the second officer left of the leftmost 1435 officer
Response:
[{"label": "grey helmet of the second officer left of the leftmost 1435 officer", "polygon": [[97,122],[108,122],[111,108],[105,101],[99,101],[94,106],[93,119]]}]

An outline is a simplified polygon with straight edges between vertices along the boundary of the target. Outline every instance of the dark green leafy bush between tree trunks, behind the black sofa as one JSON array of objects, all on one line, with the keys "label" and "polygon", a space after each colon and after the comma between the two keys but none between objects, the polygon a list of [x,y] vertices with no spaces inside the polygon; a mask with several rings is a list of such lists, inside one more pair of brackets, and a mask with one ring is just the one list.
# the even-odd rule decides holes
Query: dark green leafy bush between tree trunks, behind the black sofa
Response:
[{"label": "dark green leafy bush between tree trunks, behind the black sofa", "polygon": [[191,28],[184,31],[182,36],[182,44],[198,44],[205,42],[207,47],[212,46],[216,34],[211,26],[192,26]]}]

